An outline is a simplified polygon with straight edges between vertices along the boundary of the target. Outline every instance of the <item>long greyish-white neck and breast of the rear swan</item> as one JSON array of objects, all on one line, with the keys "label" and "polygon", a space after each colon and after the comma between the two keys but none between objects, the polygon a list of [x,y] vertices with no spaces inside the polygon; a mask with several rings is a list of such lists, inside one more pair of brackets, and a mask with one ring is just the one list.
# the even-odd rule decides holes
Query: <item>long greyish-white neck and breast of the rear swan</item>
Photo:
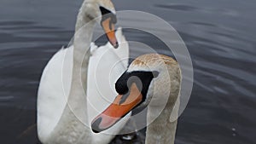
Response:
[{"label": "long greyish-white neck and breast of the rear swan", "polygon": [[[90,42],[95,21],[90,21],[84,11],[85,5],[79,11],[77,18],[76,31],[74,36],[73,48],[73,73],[67,105],[62,112],[59,123],[51,135],[61,135],[59,137],[51,136],[51,141],[59,143],[78,143],[86,141],[91,143],[91,130],[87,119],[87,101],[86,101],[86,82],[87,68],[90,58]],[[73,134],[69,134],[73,130]],[[68,141],[65,141],[68,140]]]}]

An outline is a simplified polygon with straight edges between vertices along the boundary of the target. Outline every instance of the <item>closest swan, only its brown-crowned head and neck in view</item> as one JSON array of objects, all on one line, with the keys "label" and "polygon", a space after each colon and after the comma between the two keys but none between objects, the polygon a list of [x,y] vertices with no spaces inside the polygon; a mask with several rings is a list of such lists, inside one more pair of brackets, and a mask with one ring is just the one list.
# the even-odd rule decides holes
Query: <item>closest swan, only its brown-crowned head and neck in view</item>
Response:
[{"label": "closest swan, only its brown-crowned head and neck in view", "polygon": [[[92,129],[95,132],[107,130],[127,112],[144,105],[148,106],[149,124],[146,144],[173,144],[180,82],[179,66],[171,57],[157,54],[137,57],[115,84],[119,95],[93,120]],[[176,101],[178,104],[174,105]]]}]

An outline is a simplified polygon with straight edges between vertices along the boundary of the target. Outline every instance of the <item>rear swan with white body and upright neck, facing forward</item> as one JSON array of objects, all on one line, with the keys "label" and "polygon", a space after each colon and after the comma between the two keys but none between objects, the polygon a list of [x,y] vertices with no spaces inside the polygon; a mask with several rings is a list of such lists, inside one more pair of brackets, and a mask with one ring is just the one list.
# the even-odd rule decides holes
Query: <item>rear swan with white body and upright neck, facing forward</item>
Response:
[{"label": "rear swan with white body and upright neck, facing forward", "polygon": [[[98,20],[97,17],[102,19]],[[129,55],[128,44],[121,30],[116,32],[117,37],[113,32],[115,19],[110,0],[84,0],[77,18],[74,44],[67,49],[60,49],[45,66],[38,88],[38,138],[42,143],[107,144],[113,138],[113,135],[94,134],[88,122],[97,114],[90,112],[93,107],[100,112],[108,107],[96,89],[98,82],[94,74],[102,72],[102,82],[108,82],[113,65]],[[96,22],[101,23],[111,44],[100,48],[90,44]],[[118,49],[113,49],[118,46]],[[93,49],[91,54],[89,47]],[[123,64],[115,66],[110,78],[118,78],[127,65],[128,61],[125,60]],[[101,90],[105,92],[103,96],[111,99],[115,93],[109,89],[108,84]],[[92,106],[87,104],[87,99]],[[108,134],[118,133],[125,122],[120,122]]]}]

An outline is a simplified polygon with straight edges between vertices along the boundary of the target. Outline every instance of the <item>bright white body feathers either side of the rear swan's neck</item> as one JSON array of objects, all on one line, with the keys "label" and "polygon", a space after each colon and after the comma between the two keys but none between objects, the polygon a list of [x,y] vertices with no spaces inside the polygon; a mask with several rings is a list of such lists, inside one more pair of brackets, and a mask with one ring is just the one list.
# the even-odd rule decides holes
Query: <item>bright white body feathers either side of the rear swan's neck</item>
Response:
[{"label": "bright white body feathers either side of the rear swan's neck", "polygon": [[[94,43],[91,44],[93,49],[91,49],[87,79],[89,123],[92,118],[108,107],[109,102],[113,101],[117,95],[113,84],[125,72],[128,65],[128,59],[122,60],[128,58],[129,48],[120,28],[116,32],[116,37],[119,41],[118,49],[113,49],[110,43],[99,48]],[[120,60],[121,63],[119,63]],[[72,83],[72,70],[73,46],[59,50],[44,68],[38,89],[38,135],[41,141],[47,141],[46,139],[61,118]],[[127,118],[123,118],[107,132],[118,133],[126,120]],[[109,137],[113,136],[94,134],[92,140],[95,143],[106,143],[104,140],[109,141]]]}]

